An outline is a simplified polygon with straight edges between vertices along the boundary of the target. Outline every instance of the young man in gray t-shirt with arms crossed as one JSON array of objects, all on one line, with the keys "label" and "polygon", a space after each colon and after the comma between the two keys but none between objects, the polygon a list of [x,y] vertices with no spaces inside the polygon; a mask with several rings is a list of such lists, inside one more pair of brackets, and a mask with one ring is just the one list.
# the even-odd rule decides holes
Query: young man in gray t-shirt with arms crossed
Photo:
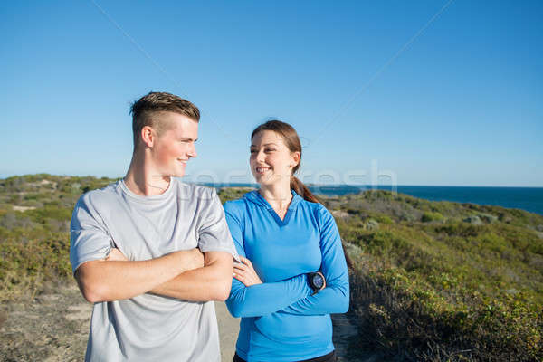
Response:
[{"label": "young man in gray t-shirt with arms crossed", "polygon": [[232,283],[232,237],[214,190],[183,184],[196,157],[199,110],[151,92],[131,108],[124,179],[82,195],[70,260],[94,303],[86,361],[219,361],[211,300]]}]

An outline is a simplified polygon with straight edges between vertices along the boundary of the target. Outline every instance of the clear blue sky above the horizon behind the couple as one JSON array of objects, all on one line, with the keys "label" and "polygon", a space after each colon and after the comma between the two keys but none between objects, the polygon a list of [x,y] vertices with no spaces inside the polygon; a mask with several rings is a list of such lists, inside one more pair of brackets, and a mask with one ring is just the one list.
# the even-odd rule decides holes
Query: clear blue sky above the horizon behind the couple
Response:
[{"label": "clear blue sky above the horizon behind the couple", "polygon": [[542,18],[540,1],[6,3],[0,177],[123,176],[129,104],[165,90],[203,112],[187,180],[251,181],[251,131],[279,118],[306,182],[543,186]]}]

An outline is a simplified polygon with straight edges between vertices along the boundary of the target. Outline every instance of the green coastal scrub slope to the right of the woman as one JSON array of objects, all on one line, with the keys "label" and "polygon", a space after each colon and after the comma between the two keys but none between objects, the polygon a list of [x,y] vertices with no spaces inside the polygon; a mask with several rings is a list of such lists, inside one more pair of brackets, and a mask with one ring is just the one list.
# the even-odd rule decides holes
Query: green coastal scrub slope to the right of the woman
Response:
[{"label": "green coastal scrub slope to the right of the woman", "polygon": [[407,360],[542,360],[543,216],[386,191],[323,202],[351,245],[358,347]]}]

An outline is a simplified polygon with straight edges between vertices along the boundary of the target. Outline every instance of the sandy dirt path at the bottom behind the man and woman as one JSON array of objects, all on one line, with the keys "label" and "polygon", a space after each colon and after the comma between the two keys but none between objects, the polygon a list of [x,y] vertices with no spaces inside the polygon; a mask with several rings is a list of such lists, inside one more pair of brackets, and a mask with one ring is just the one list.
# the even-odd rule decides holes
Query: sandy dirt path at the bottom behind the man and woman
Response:
[{"label": "sandy dirt path at the bottom behind the man and woman", "polygon": [[[231,362],[240,319],[234,319],[223,302],[215,302],[215,308],[222,360]],[[47,291],[32,302],[1,305],[0,361],[81,361],[89,336],[91,309],[75,282]],[[348,340],[357,330],[345,316],[334,316],[333,322],[339,361],[371,361],[347,357]]]}]

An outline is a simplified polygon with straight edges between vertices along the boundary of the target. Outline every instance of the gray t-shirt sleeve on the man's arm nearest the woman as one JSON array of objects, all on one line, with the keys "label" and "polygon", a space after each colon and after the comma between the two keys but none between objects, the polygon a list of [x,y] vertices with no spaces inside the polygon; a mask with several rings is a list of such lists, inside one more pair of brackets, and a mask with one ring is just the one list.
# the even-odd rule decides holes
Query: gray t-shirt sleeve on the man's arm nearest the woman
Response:
[{"label": "gray t-shirt sleeve on the man's arm nearest the woman", "polygon": [[201,252],[229,252],[239,260],[233,245],[232,235],[224,218],[224,208],[214,189],[210,190],[209,201],[201,211],[198,228],[198,248]]}]

